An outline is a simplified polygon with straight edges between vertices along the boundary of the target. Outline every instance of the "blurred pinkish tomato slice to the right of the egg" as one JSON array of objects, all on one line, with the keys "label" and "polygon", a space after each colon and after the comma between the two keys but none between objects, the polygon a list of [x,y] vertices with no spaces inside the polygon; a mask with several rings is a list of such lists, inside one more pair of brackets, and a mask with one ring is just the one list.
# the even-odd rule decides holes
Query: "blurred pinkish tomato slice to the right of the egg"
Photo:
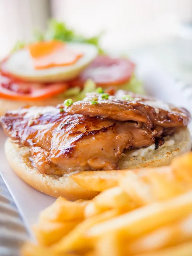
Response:
[{"label": "blurred pinkish tomato slice to the right of the egg", "polygon": [[79,76],[71,81],[72,86],[82,86],[84,81],[92,79],[99,86],[123,84],[131,79],[135,64],[124,58],[98,56]]}]

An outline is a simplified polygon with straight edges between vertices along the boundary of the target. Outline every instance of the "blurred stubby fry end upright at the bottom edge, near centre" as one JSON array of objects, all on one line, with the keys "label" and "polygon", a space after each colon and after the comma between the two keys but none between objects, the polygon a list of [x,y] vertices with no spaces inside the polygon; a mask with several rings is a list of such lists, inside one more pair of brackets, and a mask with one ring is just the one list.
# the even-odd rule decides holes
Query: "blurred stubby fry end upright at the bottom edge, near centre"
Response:
[{"label": "blurred stubby fry end upright at the bottom edge, near centre", "polygon": [[96,243],[94,256],[125,256],[123,243],[118,233],[102,236]]}]

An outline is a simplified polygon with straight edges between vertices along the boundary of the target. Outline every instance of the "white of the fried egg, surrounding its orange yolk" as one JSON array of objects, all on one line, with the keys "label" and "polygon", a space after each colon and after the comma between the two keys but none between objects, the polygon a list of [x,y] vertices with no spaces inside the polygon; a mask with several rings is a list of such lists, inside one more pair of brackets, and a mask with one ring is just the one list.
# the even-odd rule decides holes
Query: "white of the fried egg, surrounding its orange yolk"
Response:
[{"label": "white of the fried egg, surrounding its orange yolk", "polygon": [[4,70],[26,81],[58,82],[74,79],[96,58],[98,50],[92,44],[67,43],[67,45],[70,49],[83,53],[83,56],[72,65],[36,70],[29,50],[23,48],[10,55],[4,63]]}]

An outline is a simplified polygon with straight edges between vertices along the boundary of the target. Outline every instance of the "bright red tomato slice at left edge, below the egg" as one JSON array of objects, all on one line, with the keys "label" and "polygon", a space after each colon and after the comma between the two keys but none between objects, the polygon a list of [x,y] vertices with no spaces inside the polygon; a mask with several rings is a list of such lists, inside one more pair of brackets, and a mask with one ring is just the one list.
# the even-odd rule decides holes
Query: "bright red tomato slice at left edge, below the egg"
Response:
[{"label": "bright red tomato slice at left edge, below the egg", "polygon": [[9,77],[0,76],[0,97],[16,100],[42,100],[63,93],[68,89],[68,84],[38,84],[17,82]]}]

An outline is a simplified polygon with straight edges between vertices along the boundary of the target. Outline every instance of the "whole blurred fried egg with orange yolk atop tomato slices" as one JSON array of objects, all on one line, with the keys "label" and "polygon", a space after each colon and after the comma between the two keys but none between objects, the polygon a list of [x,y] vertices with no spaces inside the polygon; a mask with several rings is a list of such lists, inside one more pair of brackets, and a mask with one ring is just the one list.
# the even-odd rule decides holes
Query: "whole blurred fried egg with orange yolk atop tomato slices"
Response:
[{"label": "whole blurred fried egg with orange yolk atop tomato slices", "polygon": [[42,43],[20,49],[3,62],[2,70],[25,81],[68,81],[79,76],[98,54],[92,44],[59,44],[55,44],[57,49],[53,44],[46,49]]}]

